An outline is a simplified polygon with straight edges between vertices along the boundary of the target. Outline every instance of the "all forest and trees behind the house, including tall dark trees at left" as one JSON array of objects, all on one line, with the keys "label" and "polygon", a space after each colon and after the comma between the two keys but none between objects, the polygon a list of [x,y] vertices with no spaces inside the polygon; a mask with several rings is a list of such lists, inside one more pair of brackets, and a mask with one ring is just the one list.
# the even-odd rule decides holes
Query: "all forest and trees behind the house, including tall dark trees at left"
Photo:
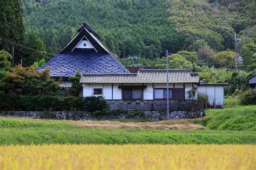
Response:
[{"label": "all forest and trees behind the house, including tall dark trees at left", "polygon": [[254,0],[9,0],[1,1],[0,9],[0,55],[12,66],[21,59],[26,67],[43,65],[85,22],[127,66],[127,57],[137,55],[137,65],[165,68],[167,49],[169,68],[191,68],[208,82],[229,82],[232,93],[256,69]]}]

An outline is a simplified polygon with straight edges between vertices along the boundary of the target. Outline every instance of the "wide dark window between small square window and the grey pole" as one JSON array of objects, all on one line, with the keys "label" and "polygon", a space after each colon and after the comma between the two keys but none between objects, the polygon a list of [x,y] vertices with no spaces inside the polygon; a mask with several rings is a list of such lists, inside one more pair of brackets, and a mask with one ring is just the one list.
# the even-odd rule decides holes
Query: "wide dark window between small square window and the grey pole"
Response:
[{"label": "wide dark window between small square window and the grey pole", "polygon": [[143,89],[123,89],[123,99],[127,100],[142,100]]}]

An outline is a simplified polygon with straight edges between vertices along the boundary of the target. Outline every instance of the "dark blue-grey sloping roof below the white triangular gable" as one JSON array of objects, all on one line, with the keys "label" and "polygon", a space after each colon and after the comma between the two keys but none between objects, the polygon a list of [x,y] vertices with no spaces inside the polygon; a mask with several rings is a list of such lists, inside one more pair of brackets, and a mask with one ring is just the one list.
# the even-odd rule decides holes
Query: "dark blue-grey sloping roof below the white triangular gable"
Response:
[{"label": "dark blue-grey sloping roof below the white triangular gable", "polygon": [[111,54],[97,52],[69,52],[57,54],[38,70],[50,67],[52,77],[70,77],[80,73],[129,73]]}]

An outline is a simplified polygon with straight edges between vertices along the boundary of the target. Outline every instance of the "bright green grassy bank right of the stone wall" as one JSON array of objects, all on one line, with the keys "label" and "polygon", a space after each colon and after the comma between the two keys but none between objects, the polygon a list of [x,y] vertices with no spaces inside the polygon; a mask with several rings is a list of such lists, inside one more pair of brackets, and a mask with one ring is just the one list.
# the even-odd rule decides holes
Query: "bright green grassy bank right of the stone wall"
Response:
[{"label": "bright green grassy bank right of the stone wall", "polygon": [[211,130],[256,130],[256,105],[209,109],[206,116],[196,123]]}]

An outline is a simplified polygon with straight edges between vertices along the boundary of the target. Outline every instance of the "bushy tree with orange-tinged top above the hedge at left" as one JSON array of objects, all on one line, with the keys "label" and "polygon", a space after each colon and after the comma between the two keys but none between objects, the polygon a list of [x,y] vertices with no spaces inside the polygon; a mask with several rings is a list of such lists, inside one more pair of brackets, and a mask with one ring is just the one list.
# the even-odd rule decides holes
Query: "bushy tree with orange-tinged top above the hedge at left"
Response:
[{"label": "bushy tree with orange-tinged top above the hedge at left", "polygon": [[35,67],[17,65],[3,79],[4,91],[12,95],[57,95],[58,83],[51,79],[50,69],[38,72]]}]

